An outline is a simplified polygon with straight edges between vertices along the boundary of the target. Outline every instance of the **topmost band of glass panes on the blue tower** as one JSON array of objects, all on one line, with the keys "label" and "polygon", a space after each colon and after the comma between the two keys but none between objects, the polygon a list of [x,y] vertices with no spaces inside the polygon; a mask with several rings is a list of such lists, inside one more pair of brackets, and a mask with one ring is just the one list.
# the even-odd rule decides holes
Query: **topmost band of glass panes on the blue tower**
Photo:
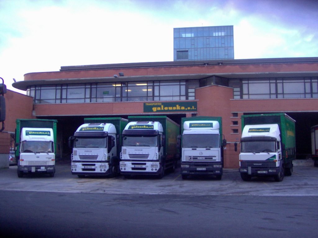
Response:
[{"label": "topmost band of glass panes on the blue tower", "polygon": [[197,36],[233,36],[233,26],[185,27],[173,29],[174,38]]}]

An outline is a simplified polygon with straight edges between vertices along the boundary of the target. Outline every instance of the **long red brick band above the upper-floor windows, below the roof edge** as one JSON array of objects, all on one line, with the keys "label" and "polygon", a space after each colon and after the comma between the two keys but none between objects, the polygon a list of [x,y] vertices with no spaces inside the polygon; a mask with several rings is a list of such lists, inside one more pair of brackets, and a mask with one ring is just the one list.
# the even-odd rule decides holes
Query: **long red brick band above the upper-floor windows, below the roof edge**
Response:
[{"label": "long red brick band above the upper-floor windows, below the roof edge", "polygon": [[318,63],[266,63],[241,65],[197,65],[197,66],[165,66],[128,69],[100,69],[28,73],[24,80],[65,79],[113,77],[118,72],[125,76],[149,75],[184,75],[184,74],[228,74],[228,73],[273,73],[273,72],[306,72],[317,71]]}]

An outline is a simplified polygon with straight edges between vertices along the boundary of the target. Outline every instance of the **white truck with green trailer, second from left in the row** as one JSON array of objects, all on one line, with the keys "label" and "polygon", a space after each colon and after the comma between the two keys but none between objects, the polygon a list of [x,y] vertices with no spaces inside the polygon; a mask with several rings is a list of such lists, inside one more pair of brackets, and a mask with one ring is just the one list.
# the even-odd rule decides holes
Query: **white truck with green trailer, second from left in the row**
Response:
[{"label": "white truck with green trailer, second from left in the row", "polygon": [[127,123],[127,119],[120,117],[84,118],[84,124],[69,138],[69,146],[73,148],[72,174],[79,178],[118,175],[120,135]]}]

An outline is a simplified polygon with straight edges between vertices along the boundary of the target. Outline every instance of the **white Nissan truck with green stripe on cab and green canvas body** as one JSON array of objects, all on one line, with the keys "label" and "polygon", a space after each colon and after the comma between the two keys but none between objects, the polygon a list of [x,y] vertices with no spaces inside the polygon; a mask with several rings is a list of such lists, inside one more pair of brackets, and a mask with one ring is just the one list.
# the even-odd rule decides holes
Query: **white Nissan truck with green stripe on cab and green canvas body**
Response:
[{"label": "white Nissan truck with green stripe on cab and green canvas body", "polygon": [[290,176],[296,157],[295,120],[285,113],[243,115],[239,172],[244,181],[252,176],[273,176],[276,182]]}]

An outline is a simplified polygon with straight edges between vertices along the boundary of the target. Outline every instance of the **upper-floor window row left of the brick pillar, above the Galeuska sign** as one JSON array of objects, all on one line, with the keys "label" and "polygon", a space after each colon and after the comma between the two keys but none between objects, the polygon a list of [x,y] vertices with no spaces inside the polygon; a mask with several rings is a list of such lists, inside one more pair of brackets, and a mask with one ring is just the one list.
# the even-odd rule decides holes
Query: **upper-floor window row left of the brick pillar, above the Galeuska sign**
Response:
[{"label": "upper-floor window row left of the brick pillar, above the Galeuska sign", "polygon": [[[150,81],[32,86],[34,103],[193,100],[199,81]],[[187,93],[186,93],[187,91]]]}]

